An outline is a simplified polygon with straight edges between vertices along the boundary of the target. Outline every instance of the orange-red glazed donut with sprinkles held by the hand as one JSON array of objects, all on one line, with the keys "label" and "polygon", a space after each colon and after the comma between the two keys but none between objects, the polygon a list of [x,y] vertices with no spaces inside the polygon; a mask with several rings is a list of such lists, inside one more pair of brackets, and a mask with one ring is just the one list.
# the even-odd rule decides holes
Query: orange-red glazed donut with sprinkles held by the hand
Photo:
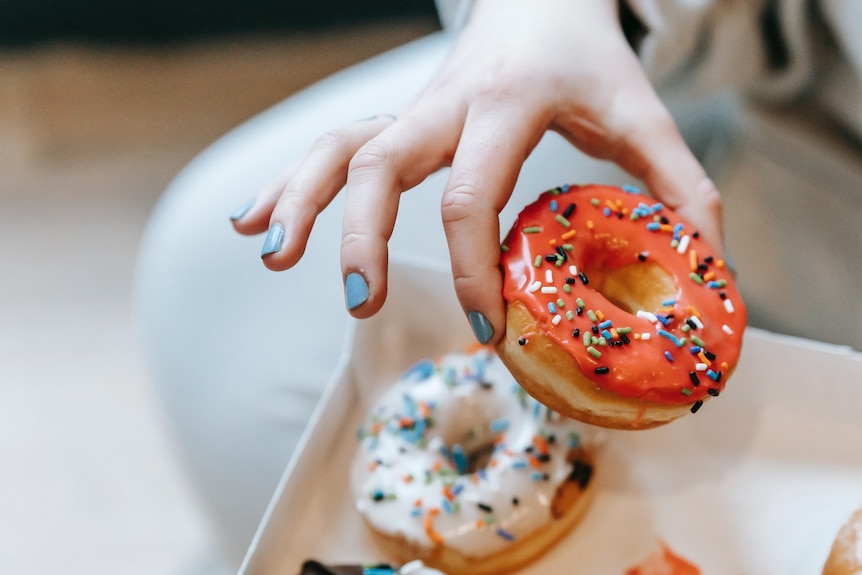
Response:
[{"label": "orange-red glazed donut with sprinkles held by the hand", "polygon": [[502,250],[497,351],[551,409],[646,429],[724,389],[742,346],[742,298],[697,231],[637,188],[548,190]]}]

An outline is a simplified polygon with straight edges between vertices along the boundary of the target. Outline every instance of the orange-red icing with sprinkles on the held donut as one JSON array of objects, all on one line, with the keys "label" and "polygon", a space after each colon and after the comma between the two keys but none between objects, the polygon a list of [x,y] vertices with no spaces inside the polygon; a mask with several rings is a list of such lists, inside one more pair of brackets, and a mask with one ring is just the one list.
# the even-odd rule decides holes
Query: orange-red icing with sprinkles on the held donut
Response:
[{"label": "orange-red icing with sprinkles on the held donut", "polygon": [[[569,194],[570,189],[577,192]],[[582,343],[581,349],[585,353],[576,357],[583,357],[579,361],[591,365],[589,371],[595,373],[597,384],[606,385],[600,383],[603,381],[613,384],[618,376],[608,378],[608,374],[616,373],[615,366],[626,356],[642,353],[635,352],[635,349],[649,350],[648,353],[657,355],[667,366],[662,373],[671,375],[664,380],[672,380],[662,383],[660,388],[653,388],[650,393],[658,394],[654,396],[657,401],[688,402],[691,411],[696,412],[705,397],[718,395],[728,371],[728,360],[735,363],[738,358],[742,330],[736,326],[740,321],[744,326],[745,320],[744,313],[737,312],[739,302],[735,301],[736,296],[728,296],[728,270],[721,259],[706,253],[708,249],[699,241],[697,231],[690,230],[662,203],[640,196],[640,190],[634,186],[624,186],[619,195],[612,191],[605,193],[606,190],[610,189],[603,186],[561,186],[546,191],[519,216],[519,221],[525,224],[521,229],[538,228],[538,235],[529,240],[518,238],[515,228],[504,245],[511,248],[513,240],[528,242],[530,250],[537,254],[533,274],[536,279],[527,291],[546,307],[549,314],[546,319],[540,319],[540,325],[554,330],[564,327],[565,331],[552,333],[559,334],[554,337],[564,345],[574,345],[571,349],[577,349]],[[582,211],[578,208],[581,205],[586,206]],[[550,217],[542,216],[543,209],[552,212]],[[684,281],[676,276],[678,293],[673,297],[663,297],[657,309],[629,312],[615,306],[607,309],[599,309],[604,306],[595,304],[588,306],[586,294],[595,291],[595,286],[590,285],[589,262],[583,265],[585,262],[578,261],[581,257],[579,242],[599,242],[596,238],[600,234],[607,236],[609,232],[601,223],[605,220],[613,220],[613,226],[631,226],[631,232],[624,233],[644,233],[650,238],[640,246],[637,241],[631,242],[634,247],[628,256],[629,263],[655,265],[654,262],[661,258],[679,258],[680,266],[685,269],[681,276],[689,285],[683,285]],[[569,247],[560,249],[563,244]],[[543,245],[548,246],[544,251]],[[627,241],[623,240],[604,249],[617,250],[614,257],[625,262],[619,255],[624,249],[619,246],[625,245]],[[648,249],[643,249],[644,246]],[[517,258],[521,249],[519,246],[509,254]],[[662,253],[657,259],[659,251]],[[508,257],[503,256],[504,271]],[[560,261],[562,258],[565,258],[564,262]],[[601,281],[604,280],[600,280],[599,288],[602,287]],[[505,290],[510,290],[508,285]],[[697,297],[688,293],[698,290],[703,293]],[[507,291],[506,297],[520,299],[516,288]],[[549,299],[541,303],[543,297]],[[702,301],[701,298],[714,298],[710,301],[716,302],[706,306],[710,311],[709,319],[692,307],[700,307],[692,302]],[[591,298],[590,301],[597,300]],[[560,311],[563,309],[567,311]],[[736,344],[729,343],[731,340]],[[529,338],[526,345],[529,345]],[[719,357],[727,353],[728,346],[733,349],[734,345],[737,350],[732,352],[732,357]],[[643,361],[650,360],[647,357]],[[673,393],[677,398],[685,399],[674,399]]]}]

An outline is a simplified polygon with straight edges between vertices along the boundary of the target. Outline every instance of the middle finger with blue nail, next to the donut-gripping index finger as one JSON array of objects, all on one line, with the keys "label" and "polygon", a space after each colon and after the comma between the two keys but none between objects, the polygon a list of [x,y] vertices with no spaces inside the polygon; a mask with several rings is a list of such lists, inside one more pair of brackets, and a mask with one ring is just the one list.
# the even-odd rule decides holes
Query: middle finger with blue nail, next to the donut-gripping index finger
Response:
[{"label": "middle finger with blue nail, next to the donut-gripping index finger", "polygon": [[420,103],[350,161],[341,267],[345,303],[355,317],[370,317],[386,299],[387,244],[401,193],[449,164],[462,123],[457,107],[431,100]]}]

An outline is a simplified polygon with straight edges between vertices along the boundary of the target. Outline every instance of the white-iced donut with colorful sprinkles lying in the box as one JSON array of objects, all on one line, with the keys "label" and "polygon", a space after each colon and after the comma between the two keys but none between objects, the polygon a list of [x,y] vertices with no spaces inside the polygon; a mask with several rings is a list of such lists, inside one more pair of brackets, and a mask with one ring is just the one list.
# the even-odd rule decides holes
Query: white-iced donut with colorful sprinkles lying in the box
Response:
[{"label": "white-iced donut with colorful sprinkles lying in the box", "polygon": [[396,559],[512,571],[585,509],[586,431],[527,395],[490,348],[421,361],[360,429],[356,505]]}]

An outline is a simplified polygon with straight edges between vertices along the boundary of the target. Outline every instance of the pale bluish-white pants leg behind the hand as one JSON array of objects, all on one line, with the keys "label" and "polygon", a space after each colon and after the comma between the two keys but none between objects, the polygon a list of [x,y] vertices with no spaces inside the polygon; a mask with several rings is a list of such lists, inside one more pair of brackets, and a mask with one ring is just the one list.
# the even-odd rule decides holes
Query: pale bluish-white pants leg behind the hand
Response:
[{"label": "pale bluish-white pants leg behind the hand", "polygon": [[[137,269],[137,321],[228,568],[239,564],[335,366],[347,318],[341,198],[319,217],[303,260],[283,273],[259,261],[262,237],[239,236],[228,218],[326,130],[397,110],[431,77],[448,42],[437,34],[377,57],[240,126],[176,178],[152,216]],[[695,122],[689,131],[701,156],[715,149],[711,130]],[[403,196],[392,253],[448,261],[439,217],[445,177],[435,174]],[[501,228],[539,191],[588,181],[631,178],[548,134],[525,164]],[[731,248],[754,240],[741,237]],[[748,265],[749,255],[740,263]]]}]

